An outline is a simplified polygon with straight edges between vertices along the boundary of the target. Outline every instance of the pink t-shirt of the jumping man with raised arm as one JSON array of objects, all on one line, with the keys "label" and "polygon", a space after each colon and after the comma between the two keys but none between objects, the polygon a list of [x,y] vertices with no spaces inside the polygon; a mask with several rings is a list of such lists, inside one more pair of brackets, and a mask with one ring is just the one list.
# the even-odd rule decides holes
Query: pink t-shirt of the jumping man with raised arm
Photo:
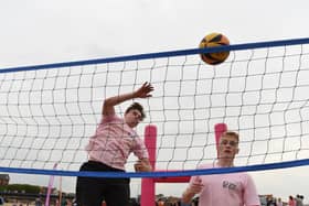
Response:
[{"label": "pink t-shirt of the jumping man with raised arm", "polygon": [[125,170],[131,152],[139,159],[148,158],[148,151],[137,132],[125,123],[124,119],[110,116],[103,117],[96,133],[86,147],[89,160],[108,166]]}]

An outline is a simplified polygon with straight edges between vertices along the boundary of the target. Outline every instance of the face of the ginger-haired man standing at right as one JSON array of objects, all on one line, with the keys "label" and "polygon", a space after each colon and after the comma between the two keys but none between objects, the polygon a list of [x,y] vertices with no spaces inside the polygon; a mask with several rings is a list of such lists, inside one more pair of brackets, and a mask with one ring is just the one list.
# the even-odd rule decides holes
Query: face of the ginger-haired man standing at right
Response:
[{"label": "face of the ginger-haired man standing at right", "polygon": [[231,159],[235,158],[235,154],[239,152],[238,140],[234,135],[222,135],[219,142],[219,158]]}]

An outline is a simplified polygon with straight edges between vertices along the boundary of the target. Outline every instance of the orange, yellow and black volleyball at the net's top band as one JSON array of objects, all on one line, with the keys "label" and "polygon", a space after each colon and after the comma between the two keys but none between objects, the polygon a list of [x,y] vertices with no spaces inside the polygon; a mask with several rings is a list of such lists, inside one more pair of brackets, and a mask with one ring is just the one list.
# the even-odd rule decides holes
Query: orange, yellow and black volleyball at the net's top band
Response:
[{"label": "orange, yellow and black volleyball at the net's top band", "polygon": [[[205,48],[205,47],[214,47],[214,46],[222,46],[222,45],[230,45],[228,39],[221,33],[211,33],[203,37],[199,47]],[[201,54],[201,58],[203,62],[207,64],[217,65],[223,63],[228,57],[228,55],[230,55],[230,51],[205,53],[205,54]]]}]

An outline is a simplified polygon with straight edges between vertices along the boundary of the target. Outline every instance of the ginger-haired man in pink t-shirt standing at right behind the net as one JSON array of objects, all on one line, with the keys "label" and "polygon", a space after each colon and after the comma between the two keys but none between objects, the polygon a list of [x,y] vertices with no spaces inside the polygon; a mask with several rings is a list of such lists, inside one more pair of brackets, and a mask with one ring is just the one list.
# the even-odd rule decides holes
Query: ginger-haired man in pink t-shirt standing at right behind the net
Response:
[{"label": "ginger-haired man in pink t-shirt standing at right behind the net", "polygon": [[[238,134],[233,131],[221,135],[217,161],[199,169],[231,167],[238,153]],[[182,195],[184,203],[200,194],[199,206],[259,206],[255,184],[247,173],[192,176]]]}]

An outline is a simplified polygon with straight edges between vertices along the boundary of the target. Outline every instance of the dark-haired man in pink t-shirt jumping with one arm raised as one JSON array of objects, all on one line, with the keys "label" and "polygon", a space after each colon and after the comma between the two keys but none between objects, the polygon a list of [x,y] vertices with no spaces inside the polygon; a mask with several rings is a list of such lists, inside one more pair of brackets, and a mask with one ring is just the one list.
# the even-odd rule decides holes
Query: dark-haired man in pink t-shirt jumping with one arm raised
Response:
[{"label": "dark-haired man in pink t-shirt jumping with one arm raised", "polygon": [[[142,106],[134,102],[125,111],[124,118],[117,117],[114,108],[126,100],[151,97],[152,90],[151,84],[145,83],[134,93],[105,99],[102,121],[86,147],[88,162],[79,171],[125,172],[125,164],[131,152],[138,158],[136,171],[152,170],[146,145],[134,130],[145,118]],[[77,206],[100,206],[103,200],[108,206],[126,206],[129,197],[129,178],[77,177]]]}]

